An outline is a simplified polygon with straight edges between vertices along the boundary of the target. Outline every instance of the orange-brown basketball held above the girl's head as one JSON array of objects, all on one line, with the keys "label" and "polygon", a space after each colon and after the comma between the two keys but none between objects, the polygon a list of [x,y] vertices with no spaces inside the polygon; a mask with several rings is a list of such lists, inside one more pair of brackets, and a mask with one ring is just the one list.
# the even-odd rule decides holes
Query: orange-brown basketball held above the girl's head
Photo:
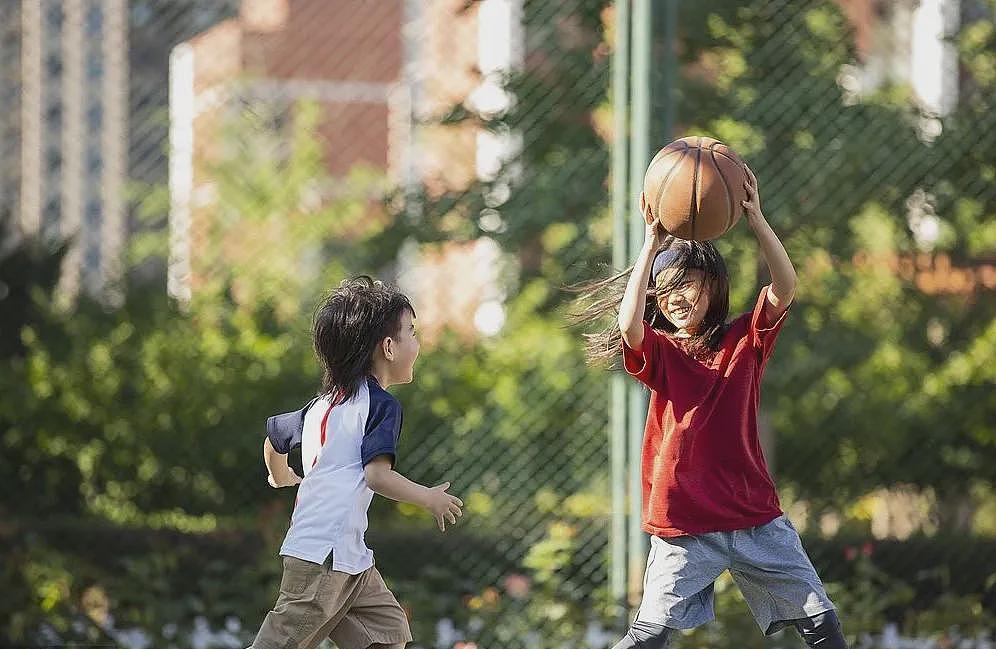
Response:
[{"label": "orange-brown basketball held above the girl's head", "polygon": [[652,217],[668,232],[707,241],[740,220],[746,180],[744,162],[733,149],[710,137],[683,137],[650,161],[643,193]]}]

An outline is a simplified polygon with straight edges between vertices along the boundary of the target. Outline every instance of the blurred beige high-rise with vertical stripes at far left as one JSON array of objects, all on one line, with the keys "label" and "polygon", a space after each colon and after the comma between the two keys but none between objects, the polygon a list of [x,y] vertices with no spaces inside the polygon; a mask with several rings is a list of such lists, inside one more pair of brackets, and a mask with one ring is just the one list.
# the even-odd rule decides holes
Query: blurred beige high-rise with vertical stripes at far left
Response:
[{"label": "blurred beige high-rise with vertical stripes at far left", "polygon": [[125,236],[125,0],[0,4],[0,205],[15,232],[74,244],[62,289],[101,295]]}]

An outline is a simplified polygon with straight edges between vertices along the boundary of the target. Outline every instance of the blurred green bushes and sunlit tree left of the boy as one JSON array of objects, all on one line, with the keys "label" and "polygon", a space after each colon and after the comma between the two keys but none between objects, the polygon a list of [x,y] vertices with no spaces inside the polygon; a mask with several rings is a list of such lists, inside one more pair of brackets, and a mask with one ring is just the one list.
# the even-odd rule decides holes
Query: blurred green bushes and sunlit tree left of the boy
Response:
[{"label": "blurred green bushes and sunlit tree left of the boy", "polygon": [[[312,305],[347,266],[369,268],[363,251],[384,226],[370,198],[377,176],[357,171],[352,192],[331,186],[317,113],[295,110],[276,162],[267,146],[278,138],[257,115],[225,135],[221,199],[198,214],[212,226],[206,280],[189,304],[161,278],[126,273],[117,308],[86,296],[64,308],[51,286],[61,253],[25,247],[0,265],[19,305],[4,310],[5,343],[9,332],[19,347],[0,359],[0,470],[27,487],[0,500],[5,640],[106,641],[92,626],[104,601],[119,628],[185,646],[196,615],[251,623],[265,605],[259,580],[278,564],[261,539],[275,542],[292,494],[266,485],[263,424],[314,394]],[[229,243],[255,246],[252,259]],[[163,249],[148,236],[139,247],[138,261]],[[265,564],[243,572],[261,549]]]}]

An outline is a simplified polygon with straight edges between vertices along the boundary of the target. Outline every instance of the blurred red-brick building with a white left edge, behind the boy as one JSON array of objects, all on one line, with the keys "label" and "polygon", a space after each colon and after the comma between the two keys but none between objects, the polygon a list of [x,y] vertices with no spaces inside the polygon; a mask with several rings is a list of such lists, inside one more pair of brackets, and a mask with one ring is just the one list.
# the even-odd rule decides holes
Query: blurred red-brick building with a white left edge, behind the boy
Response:
[{"label": "blurred red-brick building with a white left edge, behind the boy", "polygon": [[[392,104],[402,78],[398,0],[244,0],[234,17],[170,54],[169,292],[190,299],[204,277],[216,202],[214,166],[226,127],[248,108],[289,140],[302,101],[319,105],[318,132],[332,175],[392,165]],[[398,108],[394,108],[394,113]],[[277,152],[274,152],[275,154]],[[274,159],[274,164],[281,161]],[[395,163],[396,164],[396,163]]]}]

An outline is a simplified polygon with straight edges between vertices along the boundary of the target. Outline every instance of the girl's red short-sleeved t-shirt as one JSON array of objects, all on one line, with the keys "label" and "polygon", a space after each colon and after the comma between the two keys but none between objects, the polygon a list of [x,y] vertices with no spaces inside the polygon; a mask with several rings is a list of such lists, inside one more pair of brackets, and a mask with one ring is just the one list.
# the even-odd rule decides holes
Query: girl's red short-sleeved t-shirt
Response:
[{"label": "girl's red short-sleeved t-shirt", "polygon": [[785,322],[766,321],[765,287],[711,359],[643,324],[626,371],[650,388],[643,435],[643,529],[663,537],[763,525],[781,515],[757,436],[761,376]]}]

